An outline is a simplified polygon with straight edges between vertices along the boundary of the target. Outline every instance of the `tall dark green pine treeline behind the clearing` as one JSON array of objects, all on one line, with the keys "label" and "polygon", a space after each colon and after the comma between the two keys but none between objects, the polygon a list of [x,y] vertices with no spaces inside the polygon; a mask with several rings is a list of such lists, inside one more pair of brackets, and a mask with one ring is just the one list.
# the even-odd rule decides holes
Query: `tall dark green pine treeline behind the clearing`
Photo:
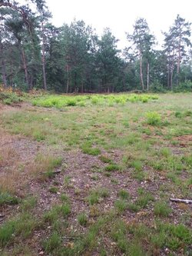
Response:
[{"label": "tall dark green pine treeline behind the clearing", "polygon": [[192,90],[191,24],[180,15],[161,50],[138,18],[122,51],[109,28],[98,36],[83,21],[58,28],[50,18],[44,0],[0,0],[0,84],[67,93]]}]

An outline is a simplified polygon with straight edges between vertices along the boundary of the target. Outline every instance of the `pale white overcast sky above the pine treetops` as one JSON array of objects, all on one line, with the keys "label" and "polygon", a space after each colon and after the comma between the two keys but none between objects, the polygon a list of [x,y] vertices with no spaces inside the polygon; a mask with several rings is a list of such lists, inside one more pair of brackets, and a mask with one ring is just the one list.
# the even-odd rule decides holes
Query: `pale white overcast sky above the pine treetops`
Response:
[{"label": "pale white overcast sky above the pine treetops", "polygon": [[60,26],[70,24],[74,18],[82,19],[86,25],[96,28],[101,35],[103,28],[111,28],[120,40],[118,47],[126,45],[125,32],[132,32],[137,18],[146,18],[151,32],[162,42],[161,31],[168,31],[179,14],[192,22],[192,0],[46,0],[53,18]]}]

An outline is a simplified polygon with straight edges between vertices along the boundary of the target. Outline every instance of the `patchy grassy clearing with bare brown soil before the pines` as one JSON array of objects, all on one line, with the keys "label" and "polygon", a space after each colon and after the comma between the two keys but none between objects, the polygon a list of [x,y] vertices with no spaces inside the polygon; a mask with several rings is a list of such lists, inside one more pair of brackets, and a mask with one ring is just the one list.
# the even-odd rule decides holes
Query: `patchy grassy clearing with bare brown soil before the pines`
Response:
[{"label": "patchy grassy clearing with bare brown soil before the pines", "polygon": [[43,95],[1,105],[0,255],[192,255],[191,204],[170,201],[192,199],[191,102]]}]

